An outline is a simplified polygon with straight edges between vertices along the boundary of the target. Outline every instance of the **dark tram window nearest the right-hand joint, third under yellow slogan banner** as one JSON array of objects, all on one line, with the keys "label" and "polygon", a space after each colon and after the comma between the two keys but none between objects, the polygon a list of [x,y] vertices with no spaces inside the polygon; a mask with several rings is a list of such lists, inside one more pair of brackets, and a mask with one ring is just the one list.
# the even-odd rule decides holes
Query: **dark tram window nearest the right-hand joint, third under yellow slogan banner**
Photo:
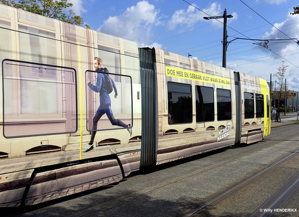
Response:
[{"label": "dark tram window nearest the right-hand joint, third under yellow slogan banner", "polygon": [[232,119],[232,100],[229,90],[217,89],[217,120]]}]

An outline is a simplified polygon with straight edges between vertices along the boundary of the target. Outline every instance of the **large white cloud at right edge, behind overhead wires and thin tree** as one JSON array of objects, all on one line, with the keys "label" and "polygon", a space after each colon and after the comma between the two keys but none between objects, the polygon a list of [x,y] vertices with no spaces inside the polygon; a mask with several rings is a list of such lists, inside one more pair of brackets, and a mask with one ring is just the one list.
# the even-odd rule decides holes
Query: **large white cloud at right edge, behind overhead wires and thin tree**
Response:
[{"label": "large white cloud at right edge, behind overhead wires and thin tree", "polygon": [[[261,39],[285,39],[299,38],[299,16],[290,16],[281,23],[276,23]],[[278,29],[282,32],[280,32]],[[286,36],[288,35],[288,36]],[[295,40],[296,41],[296,40]],[[239,56],[234,62],[227,63],[228,68],[251,74],[270,81],[270,73],[272,80],[275,80],[274,74],[278,72],[282,61],[289,66],[286,72],[287,85],[289,90],[298,90],[299,75],[299,45],[293,40],[275,41],[268,43],[270,50],[261,49],[261,53],[256,56]],[[278,55],[276,55],[278,54]],[[282,57],[282,58],[281,58]],[[252,60],[251,63],[248,61]]]}]

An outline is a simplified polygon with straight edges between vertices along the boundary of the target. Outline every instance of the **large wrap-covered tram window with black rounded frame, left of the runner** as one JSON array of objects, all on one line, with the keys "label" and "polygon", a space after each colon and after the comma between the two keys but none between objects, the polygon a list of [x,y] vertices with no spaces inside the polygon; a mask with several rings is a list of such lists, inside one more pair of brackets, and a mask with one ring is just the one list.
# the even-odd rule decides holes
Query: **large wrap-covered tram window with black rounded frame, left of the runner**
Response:
[{"label": "large wrap-covered tram window with black rounded frame, left of the runner", "polygon": [[17,60],[2,69],[5,138],[76,132],[74,69]]}]

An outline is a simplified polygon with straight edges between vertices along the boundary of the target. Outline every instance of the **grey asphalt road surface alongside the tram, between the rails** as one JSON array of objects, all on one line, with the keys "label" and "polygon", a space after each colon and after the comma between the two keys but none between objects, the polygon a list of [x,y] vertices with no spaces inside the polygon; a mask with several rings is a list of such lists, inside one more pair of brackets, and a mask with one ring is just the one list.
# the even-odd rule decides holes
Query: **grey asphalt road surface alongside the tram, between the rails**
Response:
[{"label": "grey asphalt road surface alongside the tram, between the rails", "polygon": [[[228,147],[131,174],[107,186],[25,208],[1,208],[0,216],[21,217],[175,217],[299,150],[299,125],[274,128],[265,140]],[[205,216],[249,216],[294,174],[299,154],[205,213]],[[299,216],[299,188],[282,206]]]}]

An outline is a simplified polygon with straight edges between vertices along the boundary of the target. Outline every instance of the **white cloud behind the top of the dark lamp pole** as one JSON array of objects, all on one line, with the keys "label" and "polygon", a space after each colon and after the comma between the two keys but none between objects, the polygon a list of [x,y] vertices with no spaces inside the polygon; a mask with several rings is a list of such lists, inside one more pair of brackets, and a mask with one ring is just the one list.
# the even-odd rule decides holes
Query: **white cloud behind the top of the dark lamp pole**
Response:
[{"label": "white cloud behind the top of the dark lamp pole", "polygon": [[[197,7],[195,3],[193,3],[192,5]],[[176,10],[172,14],[171,19],[168,21],[168,25],[167,25],[169,30],[174,30],[178,26],[192,29],[192,27],[197,21],[206,21],[206,22],[210,22],[215,27],[219,27],[219,28],[223,27],[222,18],[219,19],[219,21],[221,21],[222,23],[218,21],[211,21],[211,20],[208,21],[203,19],[204,16],[208,17],[208,16],[223,15],[224,11],[221,9],[220,3],[213,2],[207,8],[202,9],[202,11],[204,11],[205,13],[198,10],[192,5],[189,5],[186,10],[184,9]],[[233,18],[228,18],[228,23],[238,18],[238,14],[235,12],[233,12],[231,15],[233,15]]]}]

